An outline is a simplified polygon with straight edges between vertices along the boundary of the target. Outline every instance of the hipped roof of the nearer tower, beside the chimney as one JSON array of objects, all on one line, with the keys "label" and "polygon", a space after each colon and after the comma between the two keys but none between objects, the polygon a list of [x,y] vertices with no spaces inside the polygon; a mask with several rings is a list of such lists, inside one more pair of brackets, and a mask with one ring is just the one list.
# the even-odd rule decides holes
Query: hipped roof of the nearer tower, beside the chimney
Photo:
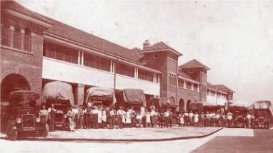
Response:
[{"label": "hipped roof of the nearer tower, beside the chimney", "polygon": [[172,53],[177,54],[177,56],[182,56],[182,53],[179,53],[176,51],[174,48],[168,46],[166,43],[160,41],[158,43],[154,43],[154,45],[149,46],[147,48],[144,48],[141,52],[150,52],[150,51],[162,51],[162,50],[167,50],[167,51],[172,51]]}]

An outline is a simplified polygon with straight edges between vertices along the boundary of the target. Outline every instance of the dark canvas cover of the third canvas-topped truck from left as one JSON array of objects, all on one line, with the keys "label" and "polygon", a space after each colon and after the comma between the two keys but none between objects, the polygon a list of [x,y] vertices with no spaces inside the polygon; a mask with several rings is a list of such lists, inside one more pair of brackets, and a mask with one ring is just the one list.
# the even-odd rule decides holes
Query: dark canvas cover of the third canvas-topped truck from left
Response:
[{"label": "dark canvas cover of the third canvas-topped truck from left", "polygon": [[125,102],[142,102],[145,107],[147,105],[144,91],[141,89],[124,89],[123,98]]}]

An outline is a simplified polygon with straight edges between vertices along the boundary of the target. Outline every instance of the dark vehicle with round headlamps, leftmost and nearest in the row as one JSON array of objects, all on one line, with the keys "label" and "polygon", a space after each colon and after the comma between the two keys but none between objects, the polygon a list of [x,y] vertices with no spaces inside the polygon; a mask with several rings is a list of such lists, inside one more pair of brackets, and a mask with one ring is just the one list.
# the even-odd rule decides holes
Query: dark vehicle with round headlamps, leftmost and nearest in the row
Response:
[{"label": "dark vehicle with round headlamps, leftmost and nearest in the row", "polygon": [[8,139],[15,140],[24,136],[47,136],[46,122],[36,114],[36,100],[39,94],[30,90],[13,91],[10,97],[10,118],[7,131]]}]

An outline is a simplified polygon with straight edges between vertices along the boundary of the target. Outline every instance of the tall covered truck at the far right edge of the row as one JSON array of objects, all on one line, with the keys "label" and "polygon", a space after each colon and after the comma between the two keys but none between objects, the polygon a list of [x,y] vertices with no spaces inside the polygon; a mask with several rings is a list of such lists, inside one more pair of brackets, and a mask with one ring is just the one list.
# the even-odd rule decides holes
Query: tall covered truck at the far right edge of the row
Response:
[{"label": "tall covered truck at the far right edge of the row", "polygon": [[270,128],[273,124],[273,105],[267,100],[253,103],[256,128]]}]

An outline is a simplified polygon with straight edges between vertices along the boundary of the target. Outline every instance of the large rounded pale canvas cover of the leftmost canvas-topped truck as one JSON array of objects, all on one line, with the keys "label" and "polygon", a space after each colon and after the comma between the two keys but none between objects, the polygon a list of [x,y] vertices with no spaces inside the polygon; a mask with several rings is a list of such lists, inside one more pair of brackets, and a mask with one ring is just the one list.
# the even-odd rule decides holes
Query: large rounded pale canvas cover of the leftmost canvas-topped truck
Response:
[{"label": "large rounded pale canvas cover of the leftmost canvas-topped truck", "polygon": [[70,105],[74,105],[74,95],[72,85],[61,81],[54,81],[44,85],[44,102],[48,100],[69,100]]}]

